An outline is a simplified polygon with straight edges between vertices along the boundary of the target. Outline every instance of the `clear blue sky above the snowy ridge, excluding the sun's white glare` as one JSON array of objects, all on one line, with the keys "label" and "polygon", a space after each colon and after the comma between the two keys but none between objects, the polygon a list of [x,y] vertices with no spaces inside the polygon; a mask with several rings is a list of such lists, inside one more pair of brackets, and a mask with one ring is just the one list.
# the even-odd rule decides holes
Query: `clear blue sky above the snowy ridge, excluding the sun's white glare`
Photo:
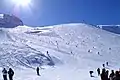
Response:
[{"label": "clear blue sky above the snowy ridge, excluding the sun's white glare", "polygon": [[[0,3],[0,13],[14,13],[14,5]],[[10,1],[10,0],[9,0]],[[45,26],[63,23],[120,24],[120,0],[33,0],[30,8],[18,15],[26,25]]]}]

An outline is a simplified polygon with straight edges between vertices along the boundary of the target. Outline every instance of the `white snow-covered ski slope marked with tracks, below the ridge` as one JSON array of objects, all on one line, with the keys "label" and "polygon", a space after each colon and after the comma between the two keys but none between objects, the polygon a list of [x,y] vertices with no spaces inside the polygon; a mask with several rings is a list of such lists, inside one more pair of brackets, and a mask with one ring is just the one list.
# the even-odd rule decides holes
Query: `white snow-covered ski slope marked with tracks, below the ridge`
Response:
[{"label": "white snow-covered ski slope marked with tracks, below the ridge", "polygon": [[12,67],[14,80],[100,80],[96,69],[106,61],[108,70],[119,69],[119,45],[119,35],[83,23],[2,28],[0,70]]}]

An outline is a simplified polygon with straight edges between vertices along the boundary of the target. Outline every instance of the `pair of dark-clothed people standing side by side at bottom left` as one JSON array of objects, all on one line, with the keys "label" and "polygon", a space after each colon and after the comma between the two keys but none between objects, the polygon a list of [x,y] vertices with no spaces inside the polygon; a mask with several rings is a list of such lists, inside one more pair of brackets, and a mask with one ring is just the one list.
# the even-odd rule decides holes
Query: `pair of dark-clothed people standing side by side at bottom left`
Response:
[{"label": "pair of dark-clothed people standing side by side at bottom left", "polygon": [[3,79],[7,80],[7,74],[9,75],[9,80],[13,80],[13,75],[14,75],[14,71],[9,68],[9,71],[7,71],[5,68],[2,70],[3,73]]}]

